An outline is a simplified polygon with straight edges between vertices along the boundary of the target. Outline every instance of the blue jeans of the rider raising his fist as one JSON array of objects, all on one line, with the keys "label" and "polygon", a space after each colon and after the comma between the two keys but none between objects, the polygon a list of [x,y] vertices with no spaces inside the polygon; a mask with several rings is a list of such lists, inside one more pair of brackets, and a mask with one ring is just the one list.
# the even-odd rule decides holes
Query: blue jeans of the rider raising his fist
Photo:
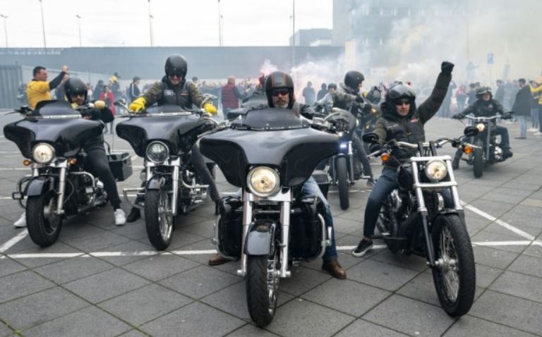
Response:
[{"label": "blue jeans of the rider raising his fist", "polygon": [[[382,175],[376,180],[373,190],[367,200],[365,219],[363,221],[364,237],[371,238],[375,233],[376,221],[378,220],[378,214],[380,214],[380,208],[387,196],[396,188],[399,188],[399,183],[397,183],[397,170],[385,167],[382,171]],[[442,198],[444,199],[445,207],[454,207],[450,189],[442,190]]]}]

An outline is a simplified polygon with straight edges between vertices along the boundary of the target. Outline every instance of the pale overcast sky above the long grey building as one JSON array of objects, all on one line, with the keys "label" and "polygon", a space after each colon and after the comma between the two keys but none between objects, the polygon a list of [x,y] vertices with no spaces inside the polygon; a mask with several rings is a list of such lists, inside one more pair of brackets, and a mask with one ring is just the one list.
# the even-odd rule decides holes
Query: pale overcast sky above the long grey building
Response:
[{"label": "pale overcast sky above the long grey building", "polygon": [[[224,46],[287,45],[293,0],[221,0]],[[296,30],[332,28],[332,0],[295,0]],[[47,47],[150,45],[147,0],[43,0]],[[150,0],[155,46],[215,46],[218,0]],[[0,0],[9,47],[43,47],[39,0]],[[6,46],[4,19],[0,47]]]}]

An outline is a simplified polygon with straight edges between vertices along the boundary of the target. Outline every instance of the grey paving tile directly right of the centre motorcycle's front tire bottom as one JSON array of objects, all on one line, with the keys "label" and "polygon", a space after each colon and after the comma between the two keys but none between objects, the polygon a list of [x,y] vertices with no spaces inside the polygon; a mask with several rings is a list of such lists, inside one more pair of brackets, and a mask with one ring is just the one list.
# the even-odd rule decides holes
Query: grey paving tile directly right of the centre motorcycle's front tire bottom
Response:
[{"label": "grey paving tile directly right of the centre motorcycle's front tire bottom", "polygon": [[[279,307],[266,330],[280,336],[332,336],[354,317],[305,300],[296,299]],[[325,324],[320,324],[325,321]]]}]

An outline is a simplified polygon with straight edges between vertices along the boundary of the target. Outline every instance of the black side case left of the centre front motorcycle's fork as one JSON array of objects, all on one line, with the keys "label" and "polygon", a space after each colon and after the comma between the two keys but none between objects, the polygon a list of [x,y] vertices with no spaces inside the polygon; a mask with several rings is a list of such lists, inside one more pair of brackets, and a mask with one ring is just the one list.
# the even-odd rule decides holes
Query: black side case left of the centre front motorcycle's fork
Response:
[{"label": "black side case left of the centre front motorcycle's fork", "polygon": [[219,201],[220,219],[215,228],[218,250],[224,257],[241,257],[243,208],[239,197],[223,197]]}]

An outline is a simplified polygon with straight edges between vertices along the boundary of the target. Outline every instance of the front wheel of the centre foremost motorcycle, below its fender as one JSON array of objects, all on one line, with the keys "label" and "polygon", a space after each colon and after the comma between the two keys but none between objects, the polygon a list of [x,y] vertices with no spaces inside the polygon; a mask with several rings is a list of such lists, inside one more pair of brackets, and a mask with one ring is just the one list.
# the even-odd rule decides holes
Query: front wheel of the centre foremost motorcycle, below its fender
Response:
[{"label": "front wheel of the centre foremost motorcycle, below its fender", "polygon": [[279,290],[278,250],[272,256],[251,256],[246,261],[246,303],[251,319],[260,328],[270,324],[277,309]]}]

